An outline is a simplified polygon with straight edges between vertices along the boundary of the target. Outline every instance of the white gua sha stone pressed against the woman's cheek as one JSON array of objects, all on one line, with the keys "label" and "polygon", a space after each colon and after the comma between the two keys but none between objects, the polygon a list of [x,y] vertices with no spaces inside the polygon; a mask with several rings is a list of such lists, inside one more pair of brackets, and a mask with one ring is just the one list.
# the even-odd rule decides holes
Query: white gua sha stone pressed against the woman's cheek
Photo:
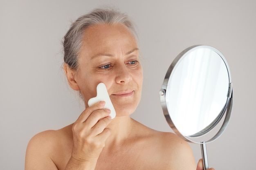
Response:
[{"label": "white gua sha stone pressed against the woman's cheek", "polygon": [[113,104],[110,100],[110,97],[108,95],[108,90],[107,90],[104,83],[99,83],[98,84],[98,86],[97,86],[97,96],[91,98],[88,101],[88,105],[92,106],[93,104],[95,104],[97,102],[100,102],[100,101],[105,101],[106,102],[106,104],[103,108],[110,109],[111,110],[110,117],[111,117],[111,119],[114,119],[116,117],[116,111],[115,111],[115,108],[114,108],[114,106],[113,106]]}]

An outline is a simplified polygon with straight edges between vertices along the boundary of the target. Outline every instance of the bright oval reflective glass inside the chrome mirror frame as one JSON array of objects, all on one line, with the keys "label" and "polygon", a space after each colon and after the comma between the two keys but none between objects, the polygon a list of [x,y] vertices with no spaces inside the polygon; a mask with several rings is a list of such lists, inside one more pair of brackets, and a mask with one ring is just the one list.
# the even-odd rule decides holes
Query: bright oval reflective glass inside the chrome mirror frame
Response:
[{"label": "bright oval reflective glass inside the chrome mirror frame", "polygon": [[227,102],[229,75],[216,51],[197,48],[183,55],[168,80],[167,109],[173,124],[191,136],[210,128]]}]

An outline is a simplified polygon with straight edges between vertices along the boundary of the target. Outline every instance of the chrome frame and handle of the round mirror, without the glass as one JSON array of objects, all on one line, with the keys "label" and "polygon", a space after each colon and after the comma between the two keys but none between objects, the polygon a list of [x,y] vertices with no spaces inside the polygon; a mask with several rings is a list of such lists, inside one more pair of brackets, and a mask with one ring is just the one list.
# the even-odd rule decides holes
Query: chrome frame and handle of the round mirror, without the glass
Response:
[{"label": "chrome frame and handle of the round mirror, without the glass", "polygon": [[[222,60],[224,61],[226,67],[227,67],[227,72],[228,72],[228,77],[229,77],[229,90],[227,93],[227,101],[225,106],[222,108],[221,113],[219,115],[219,117],[217,117],[212,124],[210,124],[209,126],[207,126],[206,128],[204,128],[203,130],[201,130],[200,132],[198,132],[197,134],[194,135],[182,135],[181,132],[179,132],[179,130],[175,127],[173,120],[171,119],[171,116],[168,113],[168,108],[167,108],[167,104],[166,104],[166,93],[168,93],[167,90],[167,86],[168,86],[168,82],[169,82],[169,78],[171,76],[171,73],[173,71],[173,69],[175,68],[176,64],[178,63],[178,61],[186,54],[191,52],[192,50],[198,49],[198,48],[207,48],[207,49],[211,49],[213,51],[215,51],[216,53],[218,53],[218,55],[220,55],[220,57],[222,58]],[[175,58],[175,60],[173,60],[173,62],[171,63],[171,65],[168,68],[168,71],[164,77],[164,82],[162,84],[162,88],[159,91],[159,95],[160,95],[160,102],[161,102],[161,106],[163,109],[163,113],[164,113],[164,117],[166,119],[166,121],[168,122],[169,126],[173,129],[173,131],[180,136],[182,139],[189,141],[189,142],[193,142],[196,144],[200,144],[201,145],[201,151],[202,151],[202,159],[203,159],[203,163],[204,163],[204,169],[208,169],[208,159],[207,159],[207,150],[206,150],[206,144],[216,140],[223,132],[224,130],[227,128],[227,125],[229,123],[230,117],[231,117],[231,112],[232,112],[232,107],[233,107],[233,86],[232,86],[232,82],[231,82],[231,73],[230,73],[230,69],[229,66],[227,64],[227,60],[225,59],[225,57],[222,55],[222,53],[220,53],[220,51],[218,51],[217,49],[215,49],[212,46],[206,46],[206,45],[195,45],[195,46],[191,46],[187,49],[185,49],[184,51],[182,51],[179,55],[177,55],[177,57]],[[225,115],[226,114],[226,115]],[[211,137],[209,140],[207,141],[201,141],[201,142],[196,142],[193,141],[193,138],[196,137],[201,137],[205,134],[207,134],[208,132],[210,132],[214,127],[216,127],[216,125],[218,123],[220,123],[220,120],[222,120],[223,116],[225,115],[225,119],[222,122],[222,126],[219,128],[218,132],[216,133],[216,135],[214,135],[213,137]]]}]

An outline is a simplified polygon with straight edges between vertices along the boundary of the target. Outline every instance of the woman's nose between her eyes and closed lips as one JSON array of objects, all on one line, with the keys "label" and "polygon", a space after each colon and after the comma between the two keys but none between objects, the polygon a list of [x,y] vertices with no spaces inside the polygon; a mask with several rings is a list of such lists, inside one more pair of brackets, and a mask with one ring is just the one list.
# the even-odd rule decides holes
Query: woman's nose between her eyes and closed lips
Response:
[{"label": "woman's nose between her eyes and closed lips", "polygon": [[116,77],[115,77],[116,83],[124,84],[132,80],[132,76],[129,72],[129,68],[127,68],[125,64],[119,65],[119,67],[117,67],[116,69],[117,69]]}]

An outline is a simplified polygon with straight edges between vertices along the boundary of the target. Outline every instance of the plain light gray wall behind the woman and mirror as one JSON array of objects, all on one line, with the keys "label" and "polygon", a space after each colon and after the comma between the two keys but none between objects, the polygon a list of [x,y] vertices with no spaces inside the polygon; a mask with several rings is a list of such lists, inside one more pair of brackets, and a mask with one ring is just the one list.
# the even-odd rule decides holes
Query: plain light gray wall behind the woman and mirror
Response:
[{"label": "plain light gray wall behind the woman and mirror", "polygon": [[[102,5],[128,13],[137,24],[144,65],[141,104],[132,117],[172,132],[159,89],[173,59],[195,44],[226,57],[234,109],[223,135],[207,145],[216,170],[253,169],[256,2],[253,0],[0,0],[0,169],[24,169],[29,139],[71,124],[83,110],[63,74],[61,40],[78,16]],[[191,144],[195,159],[200,146]]]}]

